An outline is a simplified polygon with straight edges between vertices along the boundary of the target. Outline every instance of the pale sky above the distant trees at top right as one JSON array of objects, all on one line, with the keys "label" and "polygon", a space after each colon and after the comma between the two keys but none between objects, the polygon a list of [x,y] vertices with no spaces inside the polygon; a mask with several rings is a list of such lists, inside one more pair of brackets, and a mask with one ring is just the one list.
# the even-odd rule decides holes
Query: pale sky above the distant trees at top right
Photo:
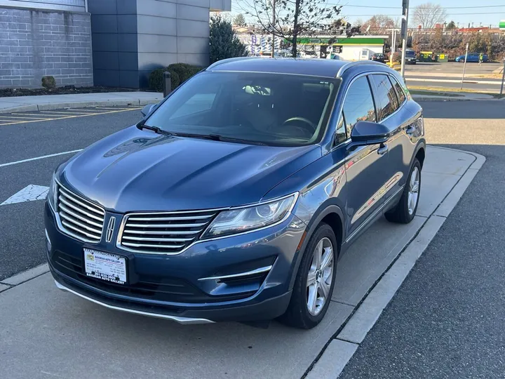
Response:
[{"label": "pale sky above the distant trees at top right", "polygon": [[[241,0],[232,1],[232,15],[240,13]],[[446,8],[447,22],[454,20],[459,22],[459,26],[468,27],[469,22],[473,22],[474,26],[493,25],[498,26],[499,20],[505,20],[505,0],[410,0],[411,12],[415,6],[431,2],[433,4],[440,4]],[[401,15],[401,0],[328,0],[328,4],[340,4],[343,6],[342,15],[346,16],[347,20],[353,22],[361,18],[367,20],[371,15]],[[395,7],[395,8],[375,8],[375,7]],[[497,6],[497,7],[491,7]],[[498,7],[499,6],[499,7]],[[460,8],[454,8],[460,7]],[[461,8],[471,7],[471,8]],[[478,14],[485,13],[485,14]],[[412,19],[409,18],[409,21]],[[412,22],[409,22],[409,27],[415,27]]]}]

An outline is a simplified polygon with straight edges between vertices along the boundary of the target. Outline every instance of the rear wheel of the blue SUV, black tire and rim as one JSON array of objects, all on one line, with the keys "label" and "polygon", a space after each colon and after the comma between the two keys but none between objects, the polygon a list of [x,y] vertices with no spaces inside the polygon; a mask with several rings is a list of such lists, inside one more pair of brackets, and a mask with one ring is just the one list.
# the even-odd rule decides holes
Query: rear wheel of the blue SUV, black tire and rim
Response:
[{"label": "rear wheel of the blue SUV, black tire and rim", "polygon": [[[416,174],[417,171],[417,174]],[[417,175],[417,185],[414,176]],[[411,192],[411,190],[414,191]],[[399,224],[408,224],[415,217],[417,206],[419,205],[419,195],[421,194],[421,164],[414,159],[414,164],[410,168],[407,183],[403,188],[402,197],[395,208],[386,212],[386,220]],[[414,204],[415,203],[415,204]]]}]

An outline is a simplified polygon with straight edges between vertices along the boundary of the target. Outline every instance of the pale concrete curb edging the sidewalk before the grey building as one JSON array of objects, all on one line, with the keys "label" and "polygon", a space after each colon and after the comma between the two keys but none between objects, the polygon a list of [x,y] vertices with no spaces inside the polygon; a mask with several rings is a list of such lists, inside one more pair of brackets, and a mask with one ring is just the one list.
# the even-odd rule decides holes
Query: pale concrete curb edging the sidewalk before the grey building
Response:
[{"label": "pale concrete curb edging the sidewalk before the grey building", "polygon": [[78,101],[78,102],[46,102],[33,105],[18,105],[0,109],[0,114],[12,112],[38,112],[41,110],[53,110],[63,108],[84,108],[84,107],[127,107],[128,105],[147,105],[159,102],[159,98],[131,99],[131,100],[100,100],[100,101]]}]

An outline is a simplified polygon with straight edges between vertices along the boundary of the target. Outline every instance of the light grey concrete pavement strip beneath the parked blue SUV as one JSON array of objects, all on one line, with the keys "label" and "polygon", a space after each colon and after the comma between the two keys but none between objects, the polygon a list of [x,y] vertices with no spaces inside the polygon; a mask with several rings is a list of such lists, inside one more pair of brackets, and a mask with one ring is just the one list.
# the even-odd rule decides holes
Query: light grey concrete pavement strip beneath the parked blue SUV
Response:
[{"label": "light grey concrete pavement strip beneath the parked blue SUV", "polygon": [[[181,326],[113,312],[58,291],[46,267],[34,270],[34,279],[6,279],[0,284],[0,378],[292,379],[307,372],[336,378],[378,317],[368,304],[380,314],[375,301],[384,296],[377,292],[392,296],[406,276],[391,280],[391,269],[407,257],[414,264],[409,251],[422,253],[419,246],[433,238],[483,161],[429,147],[415,220],[394,225],[382,219],[351,246],[339,262],[328,314],[311,331],[276,322],[266,330],[236,323]],[[378,281],[384,272],[389,279]],[[342,342],[335,339],[340,331],[349,348],[335,345]]]}]

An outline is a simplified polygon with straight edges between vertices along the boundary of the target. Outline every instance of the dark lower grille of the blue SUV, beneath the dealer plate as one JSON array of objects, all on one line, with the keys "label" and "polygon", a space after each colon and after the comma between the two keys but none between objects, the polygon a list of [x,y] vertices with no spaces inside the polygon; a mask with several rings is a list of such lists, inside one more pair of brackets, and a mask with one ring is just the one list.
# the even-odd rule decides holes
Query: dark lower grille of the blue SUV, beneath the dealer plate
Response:
[{"label": "dark lower grille of the blue SUV, beneath the dealer plate", "polygon": [[220,302],[238,300],[253,295],[254,292],[245,292],[238,295],[210,296],[192,284],[178,278],[160,278],[141,275],[138,281],[130,284],[115,284],[88,277],[83,270],[83,258],[55,251],[50,258],[53,267],[62,274],[83,283],[118,295],[131,296],[167,302]]}]

